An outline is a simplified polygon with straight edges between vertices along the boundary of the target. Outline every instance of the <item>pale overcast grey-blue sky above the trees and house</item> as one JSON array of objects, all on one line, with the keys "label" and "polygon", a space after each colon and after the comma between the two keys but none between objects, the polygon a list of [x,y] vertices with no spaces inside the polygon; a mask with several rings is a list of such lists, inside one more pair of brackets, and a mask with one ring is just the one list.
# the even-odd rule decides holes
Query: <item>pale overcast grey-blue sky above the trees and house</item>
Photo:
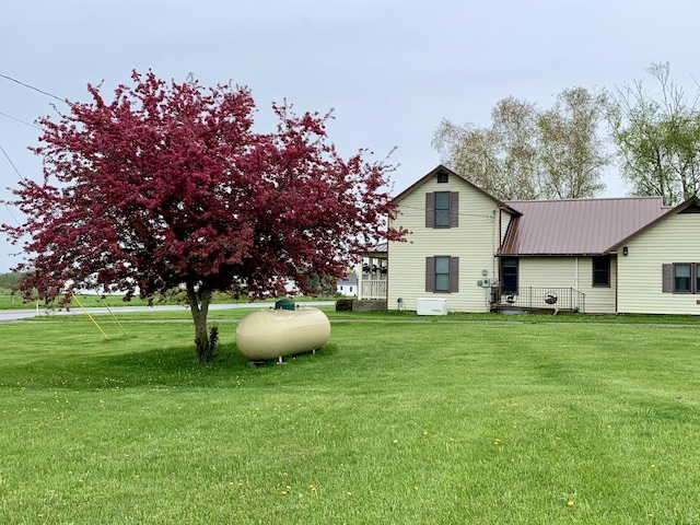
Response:
[{"label": "pale overcast grey-blue sky above the trees and house", "polygon": [[[329,140],[388,162],[398,194],[440,163],[443,119],[488,127],[506,96],[548,108],[563,89],[615,89],[670,62],[687,92],[700,79],[697,0],[4,0],[0,18],[0,199],[40,179],[40,116],[112,95],[132,70],[252,90],[257,126],[272,102],[332,109]],[[52,95],[52,96],[50,96]],[[110,96],[107,96],[110,98]],[[54,107],[56,106],[56,107]],[[615,170],[604,197],[626,195]],[[0,222],[24,221],[0,206]],[[21,259],[0,236],[0,272]]]}]

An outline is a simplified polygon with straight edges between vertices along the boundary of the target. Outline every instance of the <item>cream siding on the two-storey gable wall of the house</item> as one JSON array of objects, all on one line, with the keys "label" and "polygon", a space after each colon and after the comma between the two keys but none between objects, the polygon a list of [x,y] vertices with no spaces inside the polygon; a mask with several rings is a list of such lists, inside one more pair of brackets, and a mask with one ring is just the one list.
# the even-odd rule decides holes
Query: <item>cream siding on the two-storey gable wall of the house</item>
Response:
[{"label": "cream siding on the two-storey gable wall of the house", "polygon": [[[459,192],[459,225],[450,229],[425,228],[425,194]],[[394,225],[411,233],[404,243],[389,244],[388,308],[417,310],[419,298],[444,298],[451,312],[488,312],[490,290],[477,285],[487,277],[495,278],[493,257],[500,241],[499,210],[491,199],[451,176],[439,184],[435,177],[425,180],[399,201],[399,214]],[[459,257],[459,291],[457,293],[425,292],[425,258]]]}]

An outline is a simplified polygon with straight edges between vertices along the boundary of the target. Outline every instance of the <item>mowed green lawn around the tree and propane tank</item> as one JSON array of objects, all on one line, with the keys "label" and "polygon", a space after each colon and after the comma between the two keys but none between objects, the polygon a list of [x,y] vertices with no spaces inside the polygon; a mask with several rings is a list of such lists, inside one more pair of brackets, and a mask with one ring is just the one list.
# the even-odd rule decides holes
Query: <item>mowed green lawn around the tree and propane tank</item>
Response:
[{"label": "mowed green lawn around the tree and propane tank", "polygon": [[700,523],[697,325],[342,317],[262,368],[0,325],[0,523]]}]

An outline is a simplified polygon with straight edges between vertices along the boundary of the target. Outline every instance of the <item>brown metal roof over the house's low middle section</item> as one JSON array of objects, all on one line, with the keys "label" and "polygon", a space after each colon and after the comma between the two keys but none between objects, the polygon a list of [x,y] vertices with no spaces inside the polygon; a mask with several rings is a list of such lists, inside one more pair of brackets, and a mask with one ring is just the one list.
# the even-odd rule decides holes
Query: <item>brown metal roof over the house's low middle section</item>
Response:
[{"label": "brown metal roof over the house's low middle section", "polygon": [[511,222],[499,255],[599,255],[656,220],[661,197],[509,200],[522,213]]}]

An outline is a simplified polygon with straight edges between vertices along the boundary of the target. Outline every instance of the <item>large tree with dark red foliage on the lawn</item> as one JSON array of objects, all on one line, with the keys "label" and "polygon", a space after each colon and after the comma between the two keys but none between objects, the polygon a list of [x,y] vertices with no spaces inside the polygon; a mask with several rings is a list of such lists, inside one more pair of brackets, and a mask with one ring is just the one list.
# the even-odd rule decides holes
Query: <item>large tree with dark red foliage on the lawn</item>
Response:
[{"label": "large tree with dark red foliage on the lawn", "polygon": [[90,103],[40,120],[43,182],[20,183],[12,203],[26,222],[1,226],[31,238],[18,267],[27,298],[70,300],[67,283],[126,300],[184,288],[203,362],[214,291],[260,299],[293,281],[313,293],[363,245],[401,238],[388,225],[392,167],[364,150],[341,159],[329,115],[272,105],[277,130],[260,133],[247,89],[131,79],[112,102],[89,85]]}]

